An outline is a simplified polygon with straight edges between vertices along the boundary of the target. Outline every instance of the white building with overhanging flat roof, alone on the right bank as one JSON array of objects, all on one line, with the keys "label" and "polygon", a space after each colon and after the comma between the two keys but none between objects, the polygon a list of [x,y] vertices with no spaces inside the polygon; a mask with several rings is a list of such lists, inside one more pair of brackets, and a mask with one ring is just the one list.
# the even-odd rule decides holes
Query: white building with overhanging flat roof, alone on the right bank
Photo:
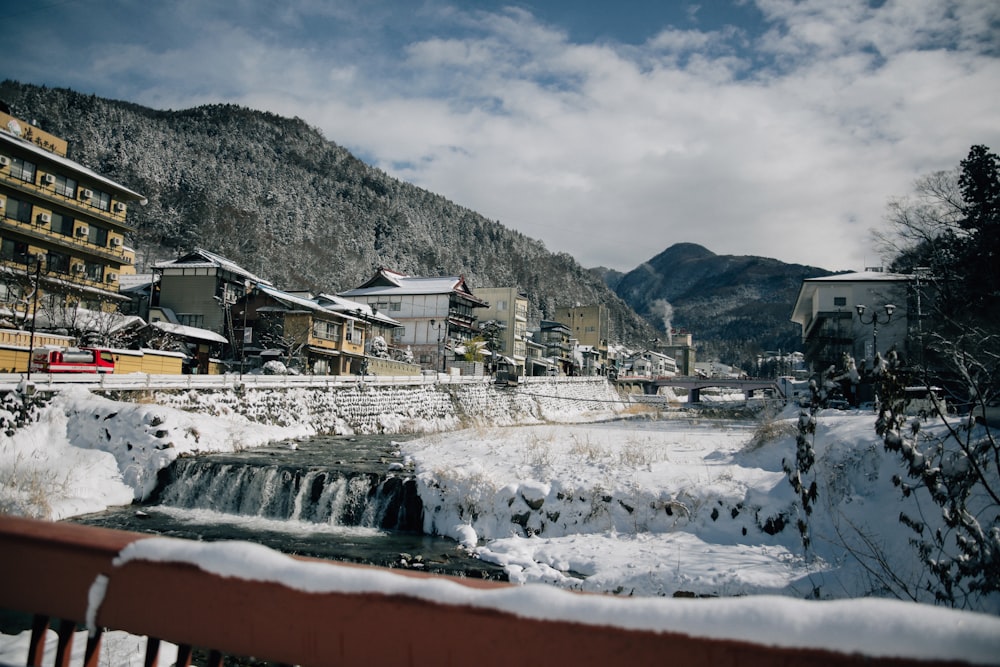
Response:
[{"label": "white building with overhanging flat roof, alone on the right bank", "polygon": [[909,352],[913,276],[869,269],[802,281],[791,321],[802,327],[806,363],[813,371],[841,368],[851,355],[871,367],[876,352]]}]

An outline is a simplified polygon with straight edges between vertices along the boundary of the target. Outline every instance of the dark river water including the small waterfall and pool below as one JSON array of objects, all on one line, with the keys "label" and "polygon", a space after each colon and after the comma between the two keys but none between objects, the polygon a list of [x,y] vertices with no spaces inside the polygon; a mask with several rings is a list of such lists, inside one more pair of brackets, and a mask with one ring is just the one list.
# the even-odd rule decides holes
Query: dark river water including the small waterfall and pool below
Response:
[{"label": "dark river water including the small waterfall and pool below", "polygon": [[[246,540],[286,553],[503,579],[447,538],[424,535],[407,436],[317,436],[181,458],[149,502],[75,523],[196,540]],[[399,465],[395,465],[399,464]],[[391,468],[396,470],[390,471]]]}]

